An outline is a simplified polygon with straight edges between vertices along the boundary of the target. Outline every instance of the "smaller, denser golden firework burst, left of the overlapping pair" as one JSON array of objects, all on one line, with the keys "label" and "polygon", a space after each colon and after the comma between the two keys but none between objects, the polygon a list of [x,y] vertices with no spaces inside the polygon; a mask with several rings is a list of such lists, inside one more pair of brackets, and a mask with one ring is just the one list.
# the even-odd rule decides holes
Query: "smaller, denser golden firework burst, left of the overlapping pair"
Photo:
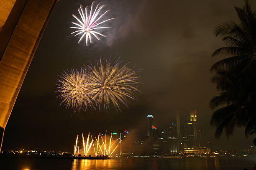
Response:
[{"label": "smaller, denser golden firework burst, left of the overlapping pair", "polygon": [[80,71],[72,69],[71,71],[61,74],[57,80],[58,92],[57,98],[61,99],[61,104],[69,109],[72,107],[74,111],[86,109],[92,101],[92,90],[94,84],[88,80],[88,76],[84,69]]}]

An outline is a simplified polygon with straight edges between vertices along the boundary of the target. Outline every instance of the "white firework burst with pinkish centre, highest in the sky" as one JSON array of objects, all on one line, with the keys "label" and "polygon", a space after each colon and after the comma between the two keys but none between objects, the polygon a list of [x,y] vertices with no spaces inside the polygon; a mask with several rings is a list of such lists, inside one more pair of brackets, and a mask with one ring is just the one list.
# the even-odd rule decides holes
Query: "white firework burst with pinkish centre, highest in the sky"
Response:
[{"label": "white firework burst with pinkish centre, highest in the sky", "polygon": [[101,13],[102,8],[105,5],[100,5],[100,3],[96,6],[95,10],[93,10],[93,6],[94,6],[94,2],[92,2],[91,5],[91,9],[89,10],[88,6],[85,7],[85,9],[83,10],[83,6],[80,5],[80,8],[78,9],[78,12],[80,14],[80,17],[82,18],[82,20],[80,20],[76,15],[72,15],[74,18],[76,18],[76,20],[79,23],[74,23],[72,22],[72,24],[77,25],[78,27],[70,27],[70,28],[75,28],[78,29],[77,31],[72,32],[71,34],[76,33],[74,36],[78,36],[78,35],[82,35],[78,41],[78,43],[80,41],[82,41],[82,39],[85,37],[85,45],[88,46],[89,45],[89,41],[90,43],[92,43],[92,38],[93,36],[95,38],[97,38],[98,40],[100,40],[100,36],[103,37],[107,37],[104,34],[96,31],[96,30],[100,30],[102,28],[111,28],[111,27],[100,27],[100,25],[102,23],[105,23],[109,20],[113,20],[115,18],[110,18],[108,20],[103,20],[100,21],[100,19],[106,14],[108,13],[109,10],[105,11],[104,13]]}]

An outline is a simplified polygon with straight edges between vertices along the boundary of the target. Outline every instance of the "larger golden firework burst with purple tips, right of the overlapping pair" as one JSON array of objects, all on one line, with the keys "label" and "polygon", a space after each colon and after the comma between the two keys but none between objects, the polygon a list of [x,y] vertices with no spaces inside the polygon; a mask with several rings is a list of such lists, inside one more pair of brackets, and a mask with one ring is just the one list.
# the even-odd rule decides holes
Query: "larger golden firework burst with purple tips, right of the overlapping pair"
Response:
[{"label": "larger golden firework burst with purple tips, right of the overlapping pair", "polygon": [[97,101],[96,104],[103,104],[105,109],[109,108],[110,103],[116,109],[119,109],[120,103],[128,107],[128,99],[135,100],[133,93],[138,91],[140,79],[136,75],[138,71],[133,71],[127,63],[121,66],[121,62],[116,61],[112,66],[107,59],[105,64],[100,60],[97,66],[87,65],[88,79],[94,83],[92,100]]}]

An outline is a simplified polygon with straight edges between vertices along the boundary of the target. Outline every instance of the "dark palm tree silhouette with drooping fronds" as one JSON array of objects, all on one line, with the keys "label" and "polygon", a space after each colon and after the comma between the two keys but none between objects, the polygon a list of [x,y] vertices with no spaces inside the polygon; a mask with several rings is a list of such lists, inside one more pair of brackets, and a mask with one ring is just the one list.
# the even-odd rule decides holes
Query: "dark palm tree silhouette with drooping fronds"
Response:
[{"label": "dark palm tree silhouette with drooping fronds", "polygon": [[248,0],[235,9],[240,22],[224,22],[215,29],[215,36],[222,36],[226,46],[212,56],[229,56],[210,69],[215,72],[212,83],[221,91],[210,101],[210,107],[217,109],[211,119],[217,127],[216,138],[224,129],[229,137],[236,126],[245,127],[246,137],[256,134],[256,10]]}]

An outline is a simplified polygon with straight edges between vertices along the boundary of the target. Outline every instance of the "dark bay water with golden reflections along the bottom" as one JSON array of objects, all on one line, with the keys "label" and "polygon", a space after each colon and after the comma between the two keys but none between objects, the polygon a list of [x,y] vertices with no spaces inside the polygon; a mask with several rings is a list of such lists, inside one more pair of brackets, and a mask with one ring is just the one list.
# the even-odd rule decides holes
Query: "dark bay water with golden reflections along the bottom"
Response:
[{"label": "dark bay water with golden reflections along the bottom", "polygon": [[69,160],[0,158],[2,170],[243,170],[252,169],[256,157],[117,158]]}]

